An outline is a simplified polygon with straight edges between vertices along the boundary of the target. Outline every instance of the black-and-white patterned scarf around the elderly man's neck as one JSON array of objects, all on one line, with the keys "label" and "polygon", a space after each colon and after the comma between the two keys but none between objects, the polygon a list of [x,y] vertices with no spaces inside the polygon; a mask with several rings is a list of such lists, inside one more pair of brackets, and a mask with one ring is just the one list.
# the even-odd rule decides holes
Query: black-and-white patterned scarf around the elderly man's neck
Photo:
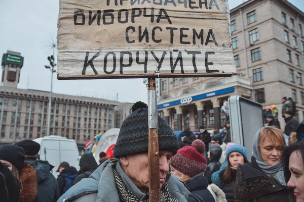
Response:
[{"label": "black-and-white patterned scarf around the elderly man's neck", "polygon": [[[113,168],[113,174],[115,177],[116,188],[118,189],[119,198],[121,202],[149,202],[149,199],[139,200],[128,189],[122,180],[121,175],[117,172],[116,168]],[[179,202],[177,199],[171,197],[170,188],[167,183],[163,185],[161,189],[161,202]]]}]

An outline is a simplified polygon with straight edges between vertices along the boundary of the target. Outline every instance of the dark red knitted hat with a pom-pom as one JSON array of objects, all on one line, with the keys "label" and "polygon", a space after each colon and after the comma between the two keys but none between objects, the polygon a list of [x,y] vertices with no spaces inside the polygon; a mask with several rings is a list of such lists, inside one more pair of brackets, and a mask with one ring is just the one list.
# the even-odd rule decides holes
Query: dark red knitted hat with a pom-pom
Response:
[{"label": "dark red knitted hat with a pom-pom", "polygon": [[191,146],[178,149],[177,154],[170,159],[170,166],[189,177],[196,176],[207,167],[204,151],[204,142],[197,139],[192,142]]}]

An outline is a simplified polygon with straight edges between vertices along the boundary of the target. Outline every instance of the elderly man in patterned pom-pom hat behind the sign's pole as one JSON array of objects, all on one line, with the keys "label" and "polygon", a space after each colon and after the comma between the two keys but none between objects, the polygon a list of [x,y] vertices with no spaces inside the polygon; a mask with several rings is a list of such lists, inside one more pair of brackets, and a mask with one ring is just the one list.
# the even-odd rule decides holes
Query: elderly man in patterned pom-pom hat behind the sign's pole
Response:
[{"label": "elderly man in patterned pom-pom hat behind the sign's pole", "polygon": [[[189,191],[169,174],[169,160],[179,148],[177,137],[161,117],[159,122],[161,201],[187,201]],[[81,180],[63,194],[58,202],[149,201],[148,110],[137,102],[123,122],[114,157],[100,165],[89,178]]]}]

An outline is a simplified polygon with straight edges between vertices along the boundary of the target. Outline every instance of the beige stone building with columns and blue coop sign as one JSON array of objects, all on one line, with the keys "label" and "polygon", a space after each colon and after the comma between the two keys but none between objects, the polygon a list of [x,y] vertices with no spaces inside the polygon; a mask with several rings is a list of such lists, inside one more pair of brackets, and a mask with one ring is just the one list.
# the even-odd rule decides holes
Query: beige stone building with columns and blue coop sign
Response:
[{"label": "beige stone building with columns and blue coop sign", "polygon": [[[224,114],[218,109],[231,95],[248,97],[264,107],[277,105],[280,111],[282,97],[286,96],[297,102],[295,116],[302,120],[303,26],[304,13],[284,0],[249,0],[231,10],[232,48],[238,75],[223,79],[161,79],[159,113],[174,129],[197,130],[200,125],[219,129]],[[222,81],[224,85],[220,87],[202,90],[201,86]],[[218,95],[217,90],[227,89],[227,83],[234,91]],[[201,97],[194,102],[193,96],[197,95]],[[174,107],[170,106],[172,102]],[[280,117],[279,121],[284,127],[284,119]]]}]

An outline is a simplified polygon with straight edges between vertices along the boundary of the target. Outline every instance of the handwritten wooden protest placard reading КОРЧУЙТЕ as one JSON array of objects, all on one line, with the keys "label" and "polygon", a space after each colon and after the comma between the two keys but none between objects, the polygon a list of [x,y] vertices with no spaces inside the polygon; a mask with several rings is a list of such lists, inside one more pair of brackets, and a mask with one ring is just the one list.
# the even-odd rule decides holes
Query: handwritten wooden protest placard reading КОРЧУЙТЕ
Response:
[{"label": "handwritten wooden protest placard reading \u041a\u041e\u0420\u0427\u0423\u0419\u0422\u0415", "polygon": [[58,79],[231,76],[225,0],[61,0]]}]

